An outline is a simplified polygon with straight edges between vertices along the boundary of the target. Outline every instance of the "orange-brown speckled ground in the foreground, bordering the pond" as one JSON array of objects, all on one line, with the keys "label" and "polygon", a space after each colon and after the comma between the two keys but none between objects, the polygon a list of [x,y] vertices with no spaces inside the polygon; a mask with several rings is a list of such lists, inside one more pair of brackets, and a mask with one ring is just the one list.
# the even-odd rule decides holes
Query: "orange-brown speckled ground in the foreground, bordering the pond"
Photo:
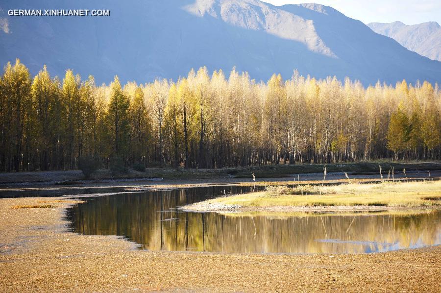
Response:
[{"label": "orange-brown speckled ground in the foreground, bordering the pond", "polygon": [[[0,292],[441,292],[441,246],[360,255],[150,252],[68,232],[63,217],[73,201],[59,199],[0,199]],[[48,204],[55,208],[12,208]]]}]

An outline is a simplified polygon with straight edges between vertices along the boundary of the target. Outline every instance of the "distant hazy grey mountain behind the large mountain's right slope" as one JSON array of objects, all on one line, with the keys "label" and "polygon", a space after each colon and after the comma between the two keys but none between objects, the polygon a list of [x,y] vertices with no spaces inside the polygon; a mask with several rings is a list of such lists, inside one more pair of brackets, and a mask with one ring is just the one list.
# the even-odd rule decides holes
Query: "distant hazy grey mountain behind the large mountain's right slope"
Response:
[{"label": "distant hazy grey mountain behind the large mountain's right slope", "polygon": [[374,32],[391,37],[411,51],[441,61],[441,27],[436,22],[415,25],[401,22],[370,23],[368,26]]}]

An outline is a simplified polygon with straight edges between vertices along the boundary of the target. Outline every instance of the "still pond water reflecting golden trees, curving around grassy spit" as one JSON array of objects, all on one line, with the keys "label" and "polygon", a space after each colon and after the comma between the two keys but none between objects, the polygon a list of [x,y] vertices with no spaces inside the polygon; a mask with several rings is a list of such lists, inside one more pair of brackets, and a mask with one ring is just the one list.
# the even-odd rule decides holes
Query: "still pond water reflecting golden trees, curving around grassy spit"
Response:
[{"label": "still pond water reflecting golden trees, curving around grassy spit", "polygon": [[441,211],[188,213],[177,207],[249,187],[187,188],[86,198],[68,211],[73,232],[119,235],[148,250],[369,253],[441,244]]}]

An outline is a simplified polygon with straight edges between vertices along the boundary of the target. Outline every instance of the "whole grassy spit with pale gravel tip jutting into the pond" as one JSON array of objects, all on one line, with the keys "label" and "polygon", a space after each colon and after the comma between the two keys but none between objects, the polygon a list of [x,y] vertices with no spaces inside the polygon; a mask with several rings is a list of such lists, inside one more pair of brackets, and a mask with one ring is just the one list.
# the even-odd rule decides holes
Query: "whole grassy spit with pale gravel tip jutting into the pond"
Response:
[{"label": "whole grassy spit with pale gravel tip jutting into the pond", "polygon": [[267,191],[222,196],[183,207],[186,211],[369,211],[441,208],[441,180],[329,186],[270,187]]}]

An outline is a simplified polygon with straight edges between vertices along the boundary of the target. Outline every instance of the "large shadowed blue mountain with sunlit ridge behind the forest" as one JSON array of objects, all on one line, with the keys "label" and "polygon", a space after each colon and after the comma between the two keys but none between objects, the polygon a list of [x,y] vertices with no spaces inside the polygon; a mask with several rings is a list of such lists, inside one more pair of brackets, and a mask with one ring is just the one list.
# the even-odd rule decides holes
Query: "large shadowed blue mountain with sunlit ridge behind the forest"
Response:
[{"label": "large shadowed blue mountain with sunlit ridge behind the forest", "polygon": [[[0,3],[0,62],[20,58],[31,73],[47,64],[97,83],[177,79],[190,69],[247,71],[267,80],[296,69],[367,86],[441,82],[441,62],[409,51],[360,21],[314,3],[258,0],[5,0]],[[12,17],[8,9],[109,9],[110,17]],[[6,29],[5,29],[6,28]]]}]

